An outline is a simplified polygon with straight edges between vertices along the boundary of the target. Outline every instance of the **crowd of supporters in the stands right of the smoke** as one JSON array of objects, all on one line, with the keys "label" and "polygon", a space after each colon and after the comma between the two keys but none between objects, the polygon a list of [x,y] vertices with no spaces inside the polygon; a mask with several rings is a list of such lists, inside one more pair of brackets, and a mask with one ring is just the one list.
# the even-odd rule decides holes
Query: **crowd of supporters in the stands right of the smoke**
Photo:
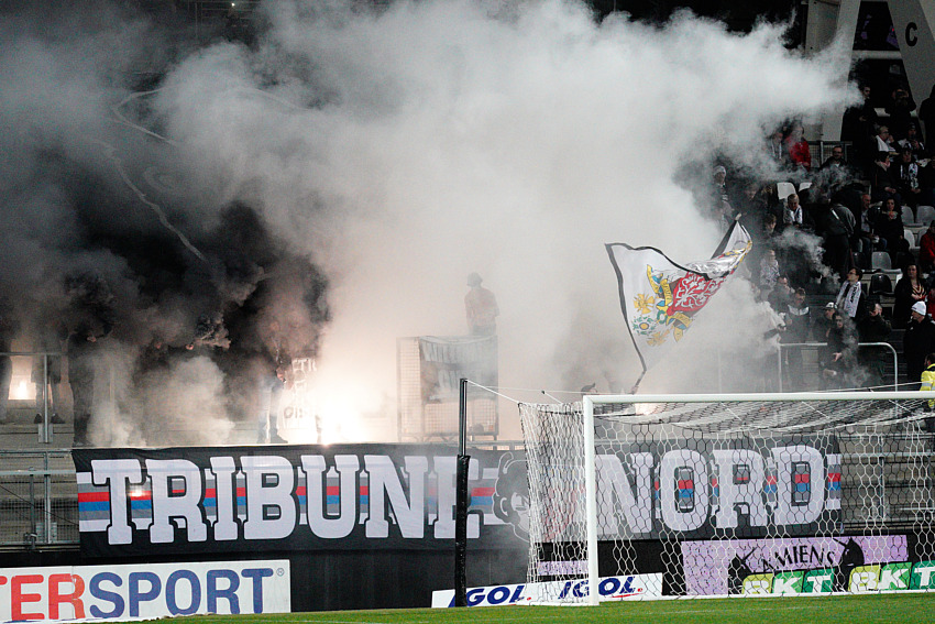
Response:
[{"label": "crowd of supporters in the stands right of the smoke", "polygon": [[[899,350],[901,388],[917,387],[935,350],[935,158],[905,98],[894,90],[886,123],[869,103],[849,110],[849,141],[824,160],[792,121],[765,143],[779,176],[713,169],[711,217],[739,219],[754,239],[745,264],[774,315],[767,339],[785,344],[782,390],[892,387],[892,351],[858,347],[880,342]],[[811,376],[790,347],[803,342],[823,344]],[[776,366],[765,375],[779,390]]]}]

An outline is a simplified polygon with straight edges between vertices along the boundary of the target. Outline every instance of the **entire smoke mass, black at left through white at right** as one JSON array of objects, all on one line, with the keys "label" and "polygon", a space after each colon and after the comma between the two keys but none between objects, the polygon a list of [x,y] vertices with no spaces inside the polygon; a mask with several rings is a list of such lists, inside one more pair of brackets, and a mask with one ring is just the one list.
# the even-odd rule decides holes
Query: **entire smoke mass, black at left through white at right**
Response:
[{"label": "entire smoke mass, black at left through white at right", "polygon": [[[121,425],[101,442],[230,439],[274,320],[317,360],[326,433],[393,439],[395,340],[464,333],[473,271],[499,302],[502,385],[620,391],[638,363],[603,244],[706,258],[719,230],[686,167],[762,168],[763,128],[851,96],[846,55],[688,13],[336,0],[253,20],[249,44],[124,3],[0,22],[0,285],[24,319],[112,326]],[[648,390],[715,383],[700,354],[728,328],[750,350],[725,371],[759,357],[749,288],[718,299]],[[172,351],[141,369],[154,340]]]}]

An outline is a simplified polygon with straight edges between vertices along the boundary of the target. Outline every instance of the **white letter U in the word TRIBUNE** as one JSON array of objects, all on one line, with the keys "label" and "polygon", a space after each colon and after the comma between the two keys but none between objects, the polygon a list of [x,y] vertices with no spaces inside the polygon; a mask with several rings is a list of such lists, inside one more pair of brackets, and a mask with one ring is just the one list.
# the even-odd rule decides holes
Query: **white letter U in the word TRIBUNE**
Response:
[{"label": "white letter U in the word TRIBUNE", "polygon": [[324,458],[320,455],[304,455],[301,467],[306,474],[308,526],[311,533],[328,538],[350,535],[358,519],[358,456],[334,456],[334,468],[340,475],[341,501],[341,511],[337,518],[324,517]]}]

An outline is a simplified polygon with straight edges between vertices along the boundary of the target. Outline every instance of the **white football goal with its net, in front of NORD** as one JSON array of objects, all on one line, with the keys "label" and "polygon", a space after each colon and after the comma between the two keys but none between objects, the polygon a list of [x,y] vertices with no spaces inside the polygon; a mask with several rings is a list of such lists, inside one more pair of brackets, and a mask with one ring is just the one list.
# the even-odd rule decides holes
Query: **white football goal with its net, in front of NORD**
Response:
[{"label": "white football goal with its net, in front of NORD", "polygon": [[520,405],[532,601],[935,589],[928,396]]}]

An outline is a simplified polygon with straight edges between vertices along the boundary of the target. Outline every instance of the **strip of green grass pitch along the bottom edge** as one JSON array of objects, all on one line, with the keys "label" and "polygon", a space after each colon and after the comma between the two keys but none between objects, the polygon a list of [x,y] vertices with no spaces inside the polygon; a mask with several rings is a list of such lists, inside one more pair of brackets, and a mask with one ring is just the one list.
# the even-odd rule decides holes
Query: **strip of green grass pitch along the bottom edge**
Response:
[{"label": "strip of green grass pitch along the bottom edge", "polygon": [[[193,621],[196,621],[193,618]],[[197,616],[242,624],[864,624],[935,622],[935,593],[605,602],[600,606],[475,606]]]}]

